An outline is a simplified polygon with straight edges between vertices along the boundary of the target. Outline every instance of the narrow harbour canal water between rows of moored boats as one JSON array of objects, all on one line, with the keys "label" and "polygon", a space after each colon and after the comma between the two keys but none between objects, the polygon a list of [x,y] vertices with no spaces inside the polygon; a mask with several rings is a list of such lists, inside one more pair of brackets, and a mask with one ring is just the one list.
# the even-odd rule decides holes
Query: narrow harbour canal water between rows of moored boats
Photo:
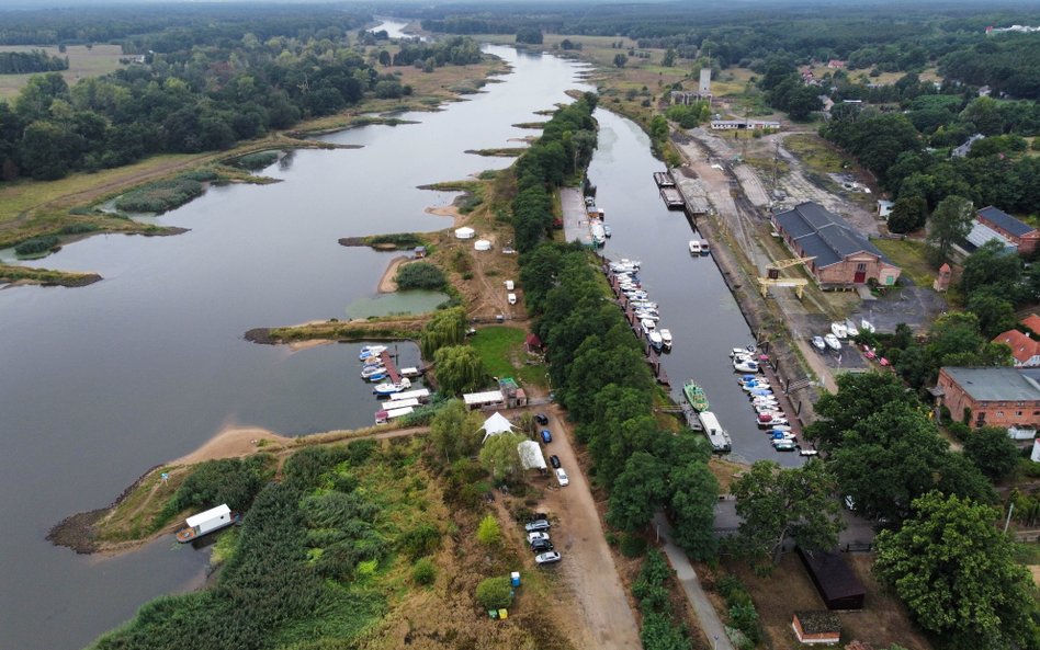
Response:
[{"label": "narrow harbour canal water between rows of moored boats", "polygon": [[692,378],[704,387],[711,411],[730,432],[734,460],[801,465],[796,454],[773,451],[737,386],[728,353],[753,343],[754,335],[712,258],[690,255],[687,242],[694,232],[683,213],[667,209],[658,194],[653,173],[665,167],[651,153],[649,138],[634,122],[609,111],[599,109],[595,117],[599,145],[588,176],[612,235],[602,252],[612,260],[643,262],[638,276],[659,305],[657,327],[671,330],[675,341],[662,356],[672,399],[682,403],[682,384]]}]

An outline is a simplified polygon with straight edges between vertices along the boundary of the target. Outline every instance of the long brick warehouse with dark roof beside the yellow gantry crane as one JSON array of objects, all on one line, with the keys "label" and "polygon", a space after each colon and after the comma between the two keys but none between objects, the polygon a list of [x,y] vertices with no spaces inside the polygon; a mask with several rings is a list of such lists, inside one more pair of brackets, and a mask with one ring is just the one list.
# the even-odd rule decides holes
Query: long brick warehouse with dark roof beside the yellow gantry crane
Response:
[{"label": "long brick warehouse with dark roof beside the yellow gantry crane", "polygon": [[821,286],[847,288],[874,281],[891,286],[901,270],[849,224],[816,203],[802,203],[772,217],[773,228]]}]

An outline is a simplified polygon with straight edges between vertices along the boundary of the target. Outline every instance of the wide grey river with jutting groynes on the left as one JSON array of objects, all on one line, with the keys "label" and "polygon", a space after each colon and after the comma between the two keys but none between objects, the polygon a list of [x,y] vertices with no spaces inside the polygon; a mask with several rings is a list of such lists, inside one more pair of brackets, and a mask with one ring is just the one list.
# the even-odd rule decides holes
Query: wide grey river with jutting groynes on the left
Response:
[{"label": "wide grey river with jutting groynes on the left", "polygon": [[[399,30],[400,25],[387,24]],[[343,318],[375,297],[394,253],[341,237],[451,227],[425,208],[453,194],[416,186],[511,159],[466,149],[517,146],[511,125],[569,101],[585,68],[488,47],[513,68],[419,124],[327,139],[362,149],[301,150],[263,173],[283,182],[215,187],[162,215],[176,237],[91,237],[31,264],[94,271],[88,287],[0,290],[0,650],[72,650],[159,594],[199,586],[207,551],[170,538],[115,558],[45,540],[65,516],[104,506],[147,468],[231,425],[305,434],[371,424],[360,345],[292,352],[255,345],[255,327]],[[403,362],[415,347],[403,345]]]}]

